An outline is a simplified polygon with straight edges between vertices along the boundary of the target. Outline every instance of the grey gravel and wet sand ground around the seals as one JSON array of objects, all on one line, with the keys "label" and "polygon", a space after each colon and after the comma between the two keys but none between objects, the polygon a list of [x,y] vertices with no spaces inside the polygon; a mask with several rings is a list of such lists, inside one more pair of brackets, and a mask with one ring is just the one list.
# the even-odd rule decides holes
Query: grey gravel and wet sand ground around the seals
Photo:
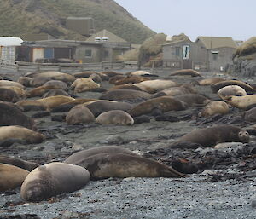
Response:
[{"label": "grey gravel and wet sand ground around the seals", "polygon": [[[168,73],[163,72],[161,76],[166,77]],[[207,72],[204,75],[211,77],[214,74]],[[216,98],[207,87],[197,89]],[[100,94],[91,95],[97,97]],[[90,93],[86,93],[86,96],[90,96]],[[172,116],[182,118],[197,112],[198,109],[189,108],[187,111],[172,113]],[[146,153],[166,147],[189,130],[214,123],[198,125],[196,119],[176,123],[156,122],[152,118],[149,124],[131,127],[98,124],[68,126],[45,117],[38,118],[37,124],[38,130],[48,136],[47,141],[38,145],[15,144],[1,149],[1,153],[36,160],[40,164],[61,161],[75,151],[102,145],[120,145]],[[238,170],[206,170],[205,175],[195,174],[184,179],[126,178],[89,182],[79,191],[40,203],[24,203],[19,191],[0,193],[0,219],[256,218],[255,177],[247,181],[211,182],[207,172],[212,176],[218,174],[217,171],[225,173]]]}]

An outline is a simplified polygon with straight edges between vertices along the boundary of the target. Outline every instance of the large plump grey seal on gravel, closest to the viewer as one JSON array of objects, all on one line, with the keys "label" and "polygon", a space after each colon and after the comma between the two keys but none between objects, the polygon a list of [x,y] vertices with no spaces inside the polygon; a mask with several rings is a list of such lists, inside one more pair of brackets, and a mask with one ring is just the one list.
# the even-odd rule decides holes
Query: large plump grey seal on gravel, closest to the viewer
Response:
[{"label": "large plump grey seal on gravel, closest to the viewer", "polygon": [[44,164],[26,176],[20,196],[26,201],[38,202],[79,190],[89,181],[89,171],[81,166],[59,162]]}]

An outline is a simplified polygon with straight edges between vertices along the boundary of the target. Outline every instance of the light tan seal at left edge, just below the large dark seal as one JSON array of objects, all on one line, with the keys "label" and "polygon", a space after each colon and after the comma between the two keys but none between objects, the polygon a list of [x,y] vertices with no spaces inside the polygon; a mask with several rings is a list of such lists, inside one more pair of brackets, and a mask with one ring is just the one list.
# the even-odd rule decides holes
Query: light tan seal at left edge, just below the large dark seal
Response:
[{"label": "light tan seal at left edge, just below the large dark seal", "polygon": [[38,144],[44,141],[45,136],[39,132],[18,125],[0,127],[0,141],[7,141],[9,139],[26,141],[28,144]]}]

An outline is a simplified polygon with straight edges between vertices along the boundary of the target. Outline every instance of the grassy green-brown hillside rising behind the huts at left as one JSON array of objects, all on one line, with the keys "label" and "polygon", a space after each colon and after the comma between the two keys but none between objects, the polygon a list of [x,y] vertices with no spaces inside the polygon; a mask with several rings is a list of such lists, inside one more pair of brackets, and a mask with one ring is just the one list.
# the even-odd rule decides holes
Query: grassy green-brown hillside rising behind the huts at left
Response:
[{"label": "grassy green-brown hillside rising behind the huts at left", "polygon": [[155,34],[113,0],[0,0],[0,36],[46,32],[54,37],[84,37],[65,28],[68,16],[93,17],[96,32],[107,29],[131,43]]}]

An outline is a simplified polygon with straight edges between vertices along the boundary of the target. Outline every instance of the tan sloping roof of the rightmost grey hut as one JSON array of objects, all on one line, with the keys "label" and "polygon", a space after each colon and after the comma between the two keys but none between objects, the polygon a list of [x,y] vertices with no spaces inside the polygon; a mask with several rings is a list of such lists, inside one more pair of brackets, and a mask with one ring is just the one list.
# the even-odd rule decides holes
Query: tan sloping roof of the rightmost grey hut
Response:
[{"label": "tan sloping roof of the rightmost grey hut", "polygon": [[218,48],[237,48],[235,41],[232,37],[197,37],[195,43],[198,41],[204,44],[206,49],[218,49]]}]

